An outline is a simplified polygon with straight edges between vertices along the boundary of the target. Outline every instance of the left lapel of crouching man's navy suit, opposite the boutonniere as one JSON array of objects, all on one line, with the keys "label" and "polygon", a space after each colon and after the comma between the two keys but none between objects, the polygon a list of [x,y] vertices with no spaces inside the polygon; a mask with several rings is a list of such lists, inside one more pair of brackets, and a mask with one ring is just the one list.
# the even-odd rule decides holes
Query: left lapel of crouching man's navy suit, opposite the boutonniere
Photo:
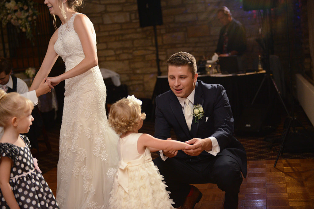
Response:
[{"label": "left lapel of crouching man's navy suit, opposite the boutonniere", "polygon": [[183,111],[182,111],[182,107],[180,105],[180,102],[178,101],[178,98],[176,98],[176,95],[173,92],[171,93],[171,100],[172,101],[170,103],[170,107],[171,107],[171,110],[172,110],[176,120],[180,124],[180,126],[183,129],[184,133],[188,137],[191,137],[189,128],[187,127],[187,123],[185,121],[185,117],[184,117],[184,114],[183,114]]}]

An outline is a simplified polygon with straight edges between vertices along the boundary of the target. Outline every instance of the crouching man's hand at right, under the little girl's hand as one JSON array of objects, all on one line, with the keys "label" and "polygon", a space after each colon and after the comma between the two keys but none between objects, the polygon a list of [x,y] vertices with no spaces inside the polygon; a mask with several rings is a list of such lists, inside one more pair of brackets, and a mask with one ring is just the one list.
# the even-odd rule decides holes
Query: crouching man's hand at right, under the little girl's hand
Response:
[{"label": "crouching man's hand at right, under the little girl's hand", "polygon": [[186,141],[187,144],[183,152],[191,156],[198,156],[203,150],[211,150],[213,148],[212,141],[209,138],[192,138]]}]

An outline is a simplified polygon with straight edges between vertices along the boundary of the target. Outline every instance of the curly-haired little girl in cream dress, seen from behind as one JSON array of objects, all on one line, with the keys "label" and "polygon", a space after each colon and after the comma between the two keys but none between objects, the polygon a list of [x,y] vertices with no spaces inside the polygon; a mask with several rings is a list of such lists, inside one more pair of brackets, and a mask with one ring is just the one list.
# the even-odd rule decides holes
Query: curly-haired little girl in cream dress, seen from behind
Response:
[{"label": "curly-haired little girl in cream dress, seen from behind", "polygon": [[173,208],[166,185],[162,182],[150,152],[162,149],[180,150],[188,144],[175,140],[162,140],[145,133],[138,133],[145,113],[142,102],[133,95],[114,103],[110,108],[109,124],[121,134],[118,141],[119,168],[116,173],[109,207]]}]

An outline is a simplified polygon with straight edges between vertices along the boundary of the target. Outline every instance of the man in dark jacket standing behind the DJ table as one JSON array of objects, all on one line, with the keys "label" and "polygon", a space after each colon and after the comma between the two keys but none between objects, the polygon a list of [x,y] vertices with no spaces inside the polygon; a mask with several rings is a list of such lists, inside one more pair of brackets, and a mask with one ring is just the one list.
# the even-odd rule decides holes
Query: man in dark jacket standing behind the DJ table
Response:
[{"label": "man in dark jacket standing behind the DJ table", "polygon": [[223,27],[220,29],[216,53],[219,56],[242,55],[246,50],[245,28],[232,18],[230,10],[222,7],[217,18]]}]

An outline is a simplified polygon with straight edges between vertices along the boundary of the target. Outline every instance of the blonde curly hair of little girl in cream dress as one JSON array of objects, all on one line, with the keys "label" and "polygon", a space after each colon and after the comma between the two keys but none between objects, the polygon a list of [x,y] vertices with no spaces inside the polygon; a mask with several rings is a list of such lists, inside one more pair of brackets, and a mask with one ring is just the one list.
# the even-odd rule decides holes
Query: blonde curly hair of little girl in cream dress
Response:
[{"label": "blonde curly hair of little girl in cream dress", "polygon": [[133,130],[146,114],[141,106],[132,99],[123,98],[110,107],[108,122],[118,135]]}]

